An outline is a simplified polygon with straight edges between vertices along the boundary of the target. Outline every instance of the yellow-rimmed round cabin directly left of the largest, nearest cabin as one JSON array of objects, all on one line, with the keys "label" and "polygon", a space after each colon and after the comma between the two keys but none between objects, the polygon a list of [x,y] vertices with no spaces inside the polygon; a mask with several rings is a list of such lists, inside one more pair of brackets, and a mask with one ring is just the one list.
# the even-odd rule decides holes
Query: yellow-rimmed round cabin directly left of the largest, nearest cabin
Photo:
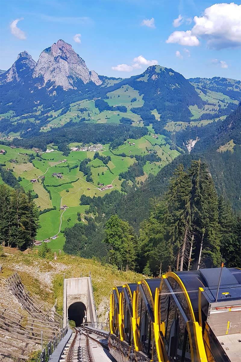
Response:
[{"label": "yellow-rimmed round cabin directly left of the largest, nearest cabin", "polygon": [[152,344],[154,343],[152,323],[154,323],[155,290],[159,285],[159,278],[141,280],[138,282],[134,299],[137,322],[137,333],[134,335],[135,344],[149,358],[152,357]]}]

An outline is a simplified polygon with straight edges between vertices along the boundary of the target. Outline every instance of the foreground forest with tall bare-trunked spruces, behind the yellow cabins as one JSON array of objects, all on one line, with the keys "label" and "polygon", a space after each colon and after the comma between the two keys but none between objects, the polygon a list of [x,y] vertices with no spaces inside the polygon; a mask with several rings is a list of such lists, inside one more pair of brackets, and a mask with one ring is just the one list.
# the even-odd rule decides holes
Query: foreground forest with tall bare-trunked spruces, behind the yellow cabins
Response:
[{"label": "foreground forest with tall bare-trunked spruces, behind the yellow cabins", "polygon": [[238,265],[241,215],[218,197],[201,160],[191,161],[186,170],[178,165],[163,197],[150,200],[150,214],[138,231],[116,214],[103,217],[116,200],[119,203],[117,191],[92,200],[82,195],[81,204],[90,203],[95,221],[88,218],[88,225],[66,229],[64,251],[150,275],[159,274],[160,268],[191,270],[219,266],[221,261]]}]

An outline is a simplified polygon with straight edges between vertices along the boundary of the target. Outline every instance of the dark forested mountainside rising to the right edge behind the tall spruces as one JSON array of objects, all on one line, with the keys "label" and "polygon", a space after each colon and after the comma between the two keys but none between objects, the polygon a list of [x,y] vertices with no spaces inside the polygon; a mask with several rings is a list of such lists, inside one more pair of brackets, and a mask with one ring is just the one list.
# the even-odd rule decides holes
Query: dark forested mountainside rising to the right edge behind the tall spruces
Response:
[{"label": "dark forested mountainside rising to the right edge behind the tall spruces", "polygon": [[[203,147],[199,148],[199,152],[178,156],[155,177],[150,176],[139,189],[130,189],[128,194],[123,196],[121,202],[107,211],[107,215],[116,213],[133,225],[135,230],[138,230],[142,220],[149,216],[151,199],[162,197],[178,164],[184,164],[186,169],[190,167],[191,160],[199,158],[208,164],[218,193],[229,199],[235,209],[240,210],[241,142],[240,138],[235,138],[236,135],[240,137],[240,132],[241,106],[226,118],[223,125],[216,125],[210,133],[207,132],[206,137],[203,132]],[[233,150],[220,152],[220,145],[225,145],[231,139],[237,142]]]}]

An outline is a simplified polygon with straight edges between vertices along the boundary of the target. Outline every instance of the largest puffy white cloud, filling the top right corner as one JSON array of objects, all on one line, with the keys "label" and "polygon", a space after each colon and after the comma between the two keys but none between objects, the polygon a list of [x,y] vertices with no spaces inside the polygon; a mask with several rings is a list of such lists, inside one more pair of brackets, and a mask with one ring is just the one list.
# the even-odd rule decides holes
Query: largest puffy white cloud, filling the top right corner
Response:
[{"label": "largest puffy white cloud, filling the top right corner", "polygon": [[241,45],[241,5],[214,4],[203,16],[195,16],[194,22],[192,34],[207,39],[211,48]]}]

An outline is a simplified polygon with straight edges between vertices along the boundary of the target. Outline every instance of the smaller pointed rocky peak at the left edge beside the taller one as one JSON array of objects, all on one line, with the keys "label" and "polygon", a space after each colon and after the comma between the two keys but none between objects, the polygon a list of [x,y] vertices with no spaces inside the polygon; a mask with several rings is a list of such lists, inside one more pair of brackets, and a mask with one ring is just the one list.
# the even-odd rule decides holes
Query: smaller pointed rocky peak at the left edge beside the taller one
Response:
[{"label": "smaller pointed rocky peak at the left edge beside the taller one", "polygon": [[26,50],[22,51],[18,54],[17,60],[13,63],[12,67],[3,73],[2,83],[26,81],[26,78],[31,78],[36,64]]}]

